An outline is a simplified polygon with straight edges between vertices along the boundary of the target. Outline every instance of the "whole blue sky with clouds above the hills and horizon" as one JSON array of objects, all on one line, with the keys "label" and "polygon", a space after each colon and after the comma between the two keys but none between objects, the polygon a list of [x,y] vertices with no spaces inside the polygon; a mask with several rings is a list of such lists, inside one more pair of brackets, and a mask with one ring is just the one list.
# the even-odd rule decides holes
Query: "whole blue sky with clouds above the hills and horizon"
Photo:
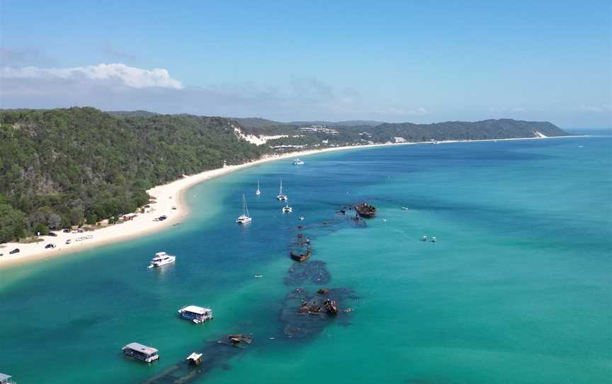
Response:
[{"label": "whole blue sky with clouds above the hills and horizon", "polygon": [[612,126],[610,1],[0,0],[0,108]]}]

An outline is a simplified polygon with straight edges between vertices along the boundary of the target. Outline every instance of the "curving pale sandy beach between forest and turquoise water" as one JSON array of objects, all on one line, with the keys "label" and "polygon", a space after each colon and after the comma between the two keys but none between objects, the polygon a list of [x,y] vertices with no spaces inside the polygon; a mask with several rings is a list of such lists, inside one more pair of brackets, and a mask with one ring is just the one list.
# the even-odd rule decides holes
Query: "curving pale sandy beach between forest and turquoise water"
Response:
[{"label": "curving pale sandy beach between forest and turquoise water", "polygon": [[[346,149],[365,149],[373,147],[389,147],[395,145],[424,145],[424,144],[450,144],[458,142],[497,142],[497,141],[509,141],[509,140],[543,140],[543,139],[555,139],[555,138],[567,138],[567,137],[584,137],[584,135],[574,136],[555,136],[555,137],[516,137],[508,139],[483,139],[483,140],[446,140],[440,142],[397,142],[397,143],[382,143],[382,144],[368,144],[368,145],[348,145],[344,147],[328,147],[323,149],[310,149],[298,152],[288,152],[284,154],[273,154],[262,157],[261,159],[247,162],[244,164],[230,165],[218,169],[210,169],[208,171],[200,172],[191,176],[183,176],[182,179],[172,181],[160,186],[155,186],[147,191],[150,196],[155,198],[153,203],[150,203],[150,208],[146,213],[139,213],[132,220],[103,227],[98,230],[87,231],[84,233],[64,233],[62,231],[53,231],[57,234],[56,237],[52,236],[40,236],[43,239],[41,242],[35,242],[30,244],[21,244],[16,242],[9,242],[2,244],[3,248],[0,248],[0,270],[8,268],[10,266],[17,266],[26,264],[42,259],[50,259],[66,254],[72,254],[75,252],[84,251],[86,249],[93,249],[95,247],[101,247],[106,244],[112,244],[115,242],[122,242],[124,240],[133,239],[143,235],[149,235],[154,232],[164,230],[167,227],[178,224],[189,215],[189,206],[184,201],[184,194],[186,191],[195,186],[196,184],[202,183],[203,181],[214,179],[218,176],[229,174],[239,169],[248,168],[267,162],[273,162],[276,160],[290,159],[293,157],[304,157],[311,154],[320,154],[324,152],[335,152]],[[174,208],[174,209],[173,209]],[[167,219],[159,222],[153,221],[154,218],[160,215],[166,215]],[[77,238],[91,235],[90,239],[84,239],[77,242]],[[65,244],[67,239],[71,240],[71,244]],[[56,244],[57,247],[54,249],[45,249],[45,244]],[[8,254],[11,249],[18,248],[20,252],[17,254]]]}]

